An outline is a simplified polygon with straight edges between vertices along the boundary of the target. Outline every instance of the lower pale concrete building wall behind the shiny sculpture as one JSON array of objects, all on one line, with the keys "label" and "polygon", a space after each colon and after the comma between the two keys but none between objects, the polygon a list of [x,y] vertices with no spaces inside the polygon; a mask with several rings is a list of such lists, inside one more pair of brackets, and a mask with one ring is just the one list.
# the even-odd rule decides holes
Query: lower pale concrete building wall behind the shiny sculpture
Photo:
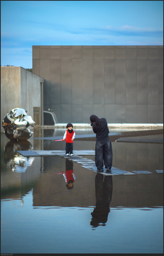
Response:
[{"label": "lower pale concrete building wall behind the shiny sculpture", "polygon": [[13,108],[27,110],[33,119],[33,107],[41,108],[40,77],[22,67],[1,67],[1,124]]}]

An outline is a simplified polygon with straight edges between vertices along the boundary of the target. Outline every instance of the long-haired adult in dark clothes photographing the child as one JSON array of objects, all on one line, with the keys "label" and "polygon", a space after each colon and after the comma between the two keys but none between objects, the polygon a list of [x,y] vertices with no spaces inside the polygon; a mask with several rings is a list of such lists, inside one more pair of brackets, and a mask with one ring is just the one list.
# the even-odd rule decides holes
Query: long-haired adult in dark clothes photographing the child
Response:
[{"label": "long-haired adult in dark clothes photographing the child", "polygon": [[96,115],[90,116],[93,132],[96,133],[95,164],[97,170],[103,171],[103,161],[107,171],[112,167],[112,143],[109,138],[109,129],[106,118],[98,118]]}]

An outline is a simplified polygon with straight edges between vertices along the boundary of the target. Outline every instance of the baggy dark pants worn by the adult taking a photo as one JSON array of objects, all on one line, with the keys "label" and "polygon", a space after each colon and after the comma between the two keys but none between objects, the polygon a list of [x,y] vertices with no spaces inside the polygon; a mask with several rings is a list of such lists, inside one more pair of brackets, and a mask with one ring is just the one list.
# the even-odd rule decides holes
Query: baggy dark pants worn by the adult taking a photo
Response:
[{"label": "baggy dark pants worn by the adult taking a photo", "polygon": [[[112,159],[113,159],[113,153],[112,153],[112,143],[109,138],[103,141],[96,141],[95,146],[95,164],[98,170],[102,170],[103,166],[105,165],[105,168],[112,167]],[[104,161],[104,165],[103,165]]]}]

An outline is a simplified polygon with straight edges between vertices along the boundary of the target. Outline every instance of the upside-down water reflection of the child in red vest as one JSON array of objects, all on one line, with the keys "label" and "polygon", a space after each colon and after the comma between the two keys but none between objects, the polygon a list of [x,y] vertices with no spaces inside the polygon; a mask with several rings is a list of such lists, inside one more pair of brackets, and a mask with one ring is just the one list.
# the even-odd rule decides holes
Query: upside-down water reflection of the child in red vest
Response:
[{"label": "upside-down water reflection of the child in red vest", "polygon": [[68,189],[73,188],[73,183],[75,181],[75,175],[73,171],[73,162],[66,159],[65,161],[65,173],[63,173],[63,176],[65,178],[65,181],[67,182],[66,187]]}]

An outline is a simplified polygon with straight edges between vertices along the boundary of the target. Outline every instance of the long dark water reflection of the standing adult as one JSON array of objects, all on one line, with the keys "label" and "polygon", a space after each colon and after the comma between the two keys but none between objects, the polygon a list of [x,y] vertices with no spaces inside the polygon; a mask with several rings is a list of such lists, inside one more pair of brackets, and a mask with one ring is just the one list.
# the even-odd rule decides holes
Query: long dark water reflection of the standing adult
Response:
[{"label": "long dark water reflection of the standing adult", "polygon": [[112,199],[112,176],[97,174],[95,177],[96,208],[91,213],[92,227],[105,226],[110,212],[109,205]]}]

